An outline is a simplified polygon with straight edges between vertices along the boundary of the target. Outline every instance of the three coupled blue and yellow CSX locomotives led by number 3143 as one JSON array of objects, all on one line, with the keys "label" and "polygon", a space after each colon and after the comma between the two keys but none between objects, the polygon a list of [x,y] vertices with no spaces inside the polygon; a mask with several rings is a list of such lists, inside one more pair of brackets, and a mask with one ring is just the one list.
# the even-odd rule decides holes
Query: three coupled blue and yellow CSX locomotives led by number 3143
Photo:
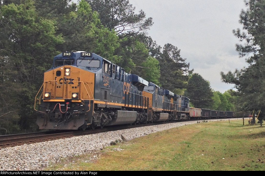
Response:
[{"label": "three coupled blue and yellow CSX locomotives led by number 3143", "polygon": [[[95,53],[72,51],[54,57],[35,97],[40,129],[94,129],[200,117],[189,99],[126,73]],[[191,111],[191,113],[190,113]],[[196,112],[196,113],[195,113]]]}]

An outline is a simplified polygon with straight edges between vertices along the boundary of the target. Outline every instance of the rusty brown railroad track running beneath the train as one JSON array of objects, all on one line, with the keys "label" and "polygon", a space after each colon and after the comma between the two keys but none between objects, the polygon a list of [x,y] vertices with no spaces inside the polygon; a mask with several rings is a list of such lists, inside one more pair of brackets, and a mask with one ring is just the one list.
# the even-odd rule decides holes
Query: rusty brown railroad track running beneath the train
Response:
[{"label": "rusty brown railroad track running beneath the train", "polygon": [[[119,125],[119,126],[112,126],[112,127],[102,128],[102,129],[94,129],[94,130],[86,130],[86,131],[67,131],[67,132],[46,131],[46,132],[36,132],[36,133],[15,134],[15,135],[2,135],[0,136],[0,148],[12,147],[12,146],[24,145],[24,144],[33,144],[33,143],[38,143],[38,142],[52,141],[56,139],[65,139],[65,138],[74,137],[74,136],[89,135],[89,134],[116,131],[116,130],[128,129],[128,128],[144,127],[144,126],[159,125],[159,124],[166,124],[166,123],[178,123],[182,121],[187,121],[187,120],[156,122],[156,123],[137,124],[137,125],[122,125],[122,126]],[[198,121],[198,120],[188,120],[188,121]]]}]

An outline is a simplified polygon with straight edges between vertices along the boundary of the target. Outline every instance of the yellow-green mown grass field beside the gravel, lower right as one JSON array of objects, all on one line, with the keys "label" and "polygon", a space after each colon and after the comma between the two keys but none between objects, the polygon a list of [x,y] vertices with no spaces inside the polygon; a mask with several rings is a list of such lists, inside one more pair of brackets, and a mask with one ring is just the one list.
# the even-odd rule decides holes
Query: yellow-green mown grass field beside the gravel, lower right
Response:
[{"label": "yellow-green mown grass field beside the gravel, lower right", "polygon": [[[246,121],[245,121],[246,122]],[[117,149],[123,149],[117,151]],[[185,125],[68,158],[46,170],[265,170],[265,127],[242,120]]]}]

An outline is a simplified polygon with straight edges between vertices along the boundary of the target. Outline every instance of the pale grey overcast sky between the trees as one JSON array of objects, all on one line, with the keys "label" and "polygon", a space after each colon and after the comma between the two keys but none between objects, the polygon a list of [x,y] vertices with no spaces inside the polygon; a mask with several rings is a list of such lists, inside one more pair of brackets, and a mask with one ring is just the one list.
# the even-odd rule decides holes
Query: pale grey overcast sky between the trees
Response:
[{"label": "pale grey overcast sky between the trees", "polygon": [[239,58],[232,30],[240,28],[243,0],[129,0],[136,12],[143,10],[153,18],[149,36],[161,47],[171,43],[187,58],[194,73],[210,81],[215,91],[224,93],[233,87],[221,81],[220,72],[227,73],[247,66]]}]

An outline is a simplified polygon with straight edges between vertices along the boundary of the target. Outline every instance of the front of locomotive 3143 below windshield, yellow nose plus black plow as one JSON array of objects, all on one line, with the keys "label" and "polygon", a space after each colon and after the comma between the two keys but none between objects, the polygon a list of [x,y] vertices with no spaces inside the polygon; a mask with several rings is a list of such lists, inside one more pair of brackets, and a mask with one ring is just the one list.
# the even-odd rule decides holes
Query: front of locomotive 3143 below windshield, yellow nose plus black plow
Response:
[{"label": "front of locomotive 3143 below windshield, yellow nose plus black plow", "polygon": [[[89,124],[94,102],[95,73],[72,65],[48,70],[37,118],[40,129],[78,129]],[[37,97],[37,96],[36,96]]]}]

